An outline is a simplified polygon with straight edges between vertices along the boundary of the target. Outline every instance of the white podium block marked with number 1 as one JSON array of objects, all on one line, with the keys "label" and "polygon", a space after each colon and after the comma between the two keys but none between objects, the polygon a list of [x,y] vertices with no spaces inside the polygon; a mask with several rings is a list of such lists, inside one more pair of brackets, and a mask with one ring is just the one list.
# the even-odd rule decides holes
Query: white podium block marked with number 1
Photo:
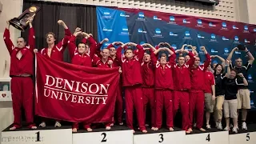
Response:
[{"label": "white podium block marked with number 1", "polygon": [[54,128],[38,128],[31,130],[26,127],[10,131],[10,126],[2,131],[1,144],[71,144],[72,129],[71,126],[62,126]]}]

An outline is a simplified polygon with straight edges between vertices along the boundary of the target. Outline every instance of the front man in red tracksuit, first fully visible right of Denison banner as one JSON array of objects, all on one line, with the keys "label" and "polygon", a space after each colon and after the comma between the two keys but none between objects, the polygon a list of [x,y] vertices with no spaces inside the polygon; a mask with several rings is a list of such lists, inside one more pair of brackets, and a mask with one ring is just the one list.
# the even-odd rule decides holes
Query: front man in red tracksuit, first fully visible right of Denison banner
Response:
[{"label": "front man in red tracksuit, first fully visible right of Denison banner", "polygon": [[[126,46],[136,46],[138,48],[138,58],[134,58],[134,51],[130,48],[122,55],[122,48]],[[122,63],[122,86],[125,87],[126,98],[126,124],[130,129],[133,126],[134,107],[137,113],[139,129],[146,133],[145,119],[143,113],[142,98],[142,73],[141,63],[143,59],[143,47],[133,42],[128,42],[118,47],[117,58]],[[135,132],[135,131],[134,131]]]}]

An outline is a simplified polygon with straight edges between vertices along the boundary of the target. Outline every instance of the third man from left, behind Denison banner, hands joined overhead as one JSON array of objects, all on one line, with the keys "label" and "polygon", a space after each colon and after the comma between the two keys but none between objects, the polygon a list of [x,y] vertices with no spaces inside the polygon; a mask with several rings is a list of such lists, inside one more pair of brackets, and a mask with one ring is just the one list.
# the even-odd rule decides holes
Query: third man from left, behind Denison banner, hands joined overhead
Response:
[{"label": "third man from left, behind Denison banner, hands joined overhead", "polygon": [[[82,35],[83,37],[87,38],[90,42],[90,46],[88,46],[86,43],[83,43],[85,40],[82,40],[83,42],[80,42],[77,48],[75,46],[75,39],[78,35]],[[94,41],[94,38],[90,37],[89,34],[76,30],[68,42],[68,48],[72,64],[80,66],[92,66],[92,60],[96,51],[96,42]],[[82,122],[82,125],[87,131],[92,131],[90,128],[90,123]],[[72,131],[77,132],[78,127],[78,122],[74,122]]]}]

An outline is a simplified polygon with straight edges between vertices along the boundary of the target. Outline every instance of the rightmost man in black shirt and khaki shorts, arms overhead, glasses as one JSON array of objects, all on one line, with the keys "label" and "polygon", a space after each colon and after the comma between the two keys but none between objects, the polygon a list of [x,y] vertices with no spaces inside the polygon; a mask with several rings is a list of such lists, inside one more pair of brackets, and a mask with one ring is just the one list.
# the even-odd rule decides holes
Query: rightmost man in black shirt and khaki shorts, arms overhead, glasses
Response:
[{"label": "rightmost man in black shirt and khaki shorts, arms overhead, glasses", "polygon": [[[238,51],[238,47],[235,47],[227,57],[227,60],[231,60],[234,51]],[[242,58],[236,58],[235,59],[235,65],[230,65],[230,69],[234,69],[238,71],[239,73],[242,73],[246,80],[248,78],[247,72],[252,66],[254,62],[254,56],[250,53],[250,51],[246,48],[245,50],[242,50],[246,52],[246,55],[248,57],[248,62],[246,62],[245,65],[242,66]],[[238,110],[242,109],[242,130],[247,130],[246,126],[246,117],[247,117],[247,109],[250,109],[250,90],[248,89],[248,86],[239,86],[238,94]],[[238,113],[239,114],[239,113]]]}]

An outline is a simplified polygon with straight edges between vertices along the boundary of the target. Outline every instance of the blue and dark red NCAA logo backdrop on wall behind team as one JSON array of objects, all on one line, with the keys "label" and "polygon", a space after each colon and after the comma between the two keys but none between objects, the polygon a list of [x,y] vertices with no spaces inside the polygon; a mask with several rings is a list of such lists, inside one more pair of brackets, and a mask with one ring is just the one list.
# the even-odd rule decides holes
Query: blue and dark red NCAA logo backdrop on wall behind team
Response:
[{"label": "blue and dark red NCAA logo backdrop on wall behind team", "polygon": [[[110,42],[150,43],[169,42],[174,49],[183,44],[198,47],[201,62],[204,54],[200,46],[206,46],[211,55],[227,58],[230,51],[238,44],[247,46],[256,54],[256,26],[242,22],[229,22],[213,18],[199,18],[181,14],[167,14],[150,10],[122,9],[97,6],[98,41],[109,38]],[[103,45],[108,46],[109,43]],[[189,50],[187,47],[185,47]],[[234,58],[242,58],[246,63],[246,54],[236,51]],[[212,62],[220,62],[214,58]],[[254,62],[255,65],[255,62]],[[255,66],[249,70],[251,106],[256,106]],[[254,74],[253,74],[254,73]]]}]

